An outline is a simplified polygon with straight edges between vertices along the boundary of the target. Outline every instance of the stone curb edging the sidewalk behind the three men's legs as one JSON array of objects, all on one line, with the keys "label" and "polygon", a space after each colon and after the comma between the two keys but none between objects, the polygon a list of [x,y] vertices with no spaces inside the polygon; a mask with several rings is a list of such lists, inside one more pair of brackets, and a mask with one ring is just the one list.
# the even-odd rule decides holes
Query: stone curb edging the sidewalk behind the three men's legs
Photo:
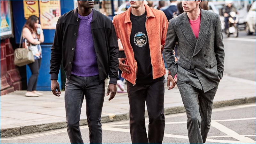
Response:
[{"label": "stone curb edging the sidewalk behind the three men's legs", "polygon": [[[255,103],[255,97],[216,101],[216,102],[213,102],[213,108],[221,108],[221,107],[241,105],[241,104],[247,104],[247,103]],[[183,113],[183,112],[186,112],[184,106],[164,108],[164,115],[177,114],[177,113]],[[145,117],[148,117],[147,110],[145,110]],[[129,112],[101,117],[101,123],[122,121],[122,120],[129,120]],[[82,125],[87,125],[87,119],[80,120],[80,126]],[[66,122],[57,122],[57,123],[37,124],[37,125],[1,129],[1,138],[19,136],[19,135],[35,133],[35,132],[44,132],[48,130],[61,129],[65,127],[67,127]]]}]

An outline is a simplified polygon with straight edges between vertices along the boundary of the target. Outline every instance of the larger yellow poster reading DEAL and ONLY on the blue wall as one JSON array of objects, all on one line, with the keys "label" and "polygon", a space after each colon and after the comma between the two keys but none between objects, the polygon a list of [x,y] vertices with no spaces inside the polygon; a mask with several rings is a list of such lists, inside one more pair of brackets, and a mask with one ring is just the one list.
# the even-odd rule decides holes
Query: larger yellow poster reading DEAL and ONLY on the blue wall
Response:
[{"label": "larger yellow poster reading DEAL and ONLY on the blue wall", "polygon": [[60,14],[60,1],[39,1],[40,22],[43,29],[55,29]]}]

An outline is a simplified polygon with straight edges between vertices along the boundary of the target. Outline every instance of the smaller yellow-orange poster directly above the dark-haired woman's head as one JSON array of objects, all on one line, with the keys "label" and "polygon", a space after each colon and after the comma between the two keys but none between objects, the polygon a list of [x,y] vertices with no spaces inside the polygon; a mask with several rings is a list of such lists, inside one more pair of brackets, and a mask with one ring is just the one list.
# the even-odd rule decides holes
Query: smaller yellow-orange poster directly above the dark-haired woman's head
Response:
[{"label": "smaller yellow-orange poster directly above the dark-haired woman's head", "polygon": [[39,17],[38,1],[23,1],[24,17],[27,20],[31,15]]}]

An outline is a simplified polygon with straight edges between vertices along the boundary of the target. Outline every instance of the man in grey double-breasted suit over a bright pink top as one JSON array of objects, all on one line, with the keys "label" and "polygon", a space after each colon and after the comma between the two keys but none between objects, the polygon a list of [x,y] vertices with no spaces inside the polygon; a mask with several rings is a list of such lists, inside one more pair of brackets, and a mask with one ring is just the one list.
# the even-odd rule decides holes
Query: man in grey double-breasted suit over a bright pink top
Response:
[{"label": "man in grey double-breasted suit over a bright pink top", "polygon": [[[200,0],[182,1],[184,13],[168,24],[164,56],[177,81],[187,113],[190,143],[205,143],[210,130],[212,103],[224,71],[220,16],[201,9]],[[173,50],[178,42],[180,59]],[[168,82],[167,82],[168,84]]]}]

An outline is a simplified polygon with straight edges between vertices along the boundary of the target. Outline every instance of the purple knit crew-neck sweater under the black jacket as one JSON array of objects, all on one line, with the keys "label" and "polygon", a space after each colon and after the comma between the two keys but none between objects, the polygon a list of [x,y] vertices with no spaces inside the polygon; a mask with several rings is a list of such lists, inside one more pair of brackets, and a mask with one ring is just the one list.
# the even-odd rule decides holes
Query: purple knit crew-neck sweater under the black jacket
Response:
[{"label": "purple knit crew-neck sweater under the black jacket", "polygon": [[99,75],[91,32],[92,12],[88,16],[78,14],[78,18],[80,21],[71,74],[76,76]]}]

